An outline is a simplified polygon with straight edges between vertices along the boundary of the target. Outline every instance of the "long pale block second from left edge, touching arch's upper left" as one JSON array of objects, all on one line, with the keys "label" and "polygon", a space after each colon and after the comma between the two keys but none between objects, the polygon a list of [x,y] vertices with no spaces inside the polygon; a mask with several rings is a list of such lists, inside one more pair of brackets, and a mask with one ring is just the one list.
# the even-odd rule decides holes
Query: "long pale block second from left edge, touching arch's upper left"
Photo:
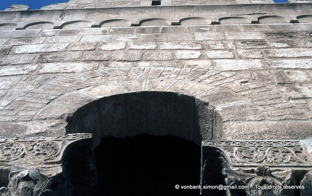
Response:
[{"label": "long pale block second from left edge, touching arch's upper left", "polygon": [[41,66],[38,73],[76,73],[97,68],[97,63],[46,63]]}]

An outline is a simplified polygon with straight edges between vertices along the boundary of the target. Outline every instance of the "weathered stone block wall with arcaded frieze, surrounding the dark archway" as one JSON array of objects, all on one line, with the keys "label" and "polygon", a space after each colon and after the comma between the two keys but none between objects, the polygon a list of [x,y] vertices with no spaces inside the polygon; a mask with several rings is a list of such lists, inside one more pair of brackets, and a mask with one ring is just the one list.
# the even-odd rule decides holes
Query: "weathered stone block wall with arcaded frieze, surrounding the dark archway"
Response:
[{"label": "weathered stone block wall with arcaded frieze, surrounding the dark archway", "polygon": [[138,135],[129,127],[145,118],[138,115],[142,107],[144,116],[155,115],[148,104],[109,102],[127,108],[125,134],[94,128],[101,115],[116,111],[93,101],[157,91],[195,98],[181,116],[207,115],[209,123],[199,120],[202,140],[312,137],[311,3],[101,2],[0,12],[1,136],[62,137],[88,129],[98,144],[100,136]]}]

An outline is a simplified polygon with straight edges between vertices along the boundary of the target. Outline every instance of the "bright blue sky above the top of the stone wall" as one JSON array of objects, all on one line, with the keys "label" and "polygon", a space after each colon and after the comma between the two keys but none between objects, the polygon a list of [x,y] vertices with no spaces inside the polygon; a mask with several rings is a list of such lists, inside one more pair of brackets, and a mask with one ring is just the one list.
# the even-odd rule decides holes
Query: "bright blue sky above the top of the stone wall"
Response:
[{"label": "bright blue sky above the top of the stone wall", "polygon": [[[30,9],[40,9],[45,5],[68,2],[69,0],[0,0],[0,10],[5,10],[12,4],[28,5]],[[274,0],[274,2],[287,2],[287,0]]]}]

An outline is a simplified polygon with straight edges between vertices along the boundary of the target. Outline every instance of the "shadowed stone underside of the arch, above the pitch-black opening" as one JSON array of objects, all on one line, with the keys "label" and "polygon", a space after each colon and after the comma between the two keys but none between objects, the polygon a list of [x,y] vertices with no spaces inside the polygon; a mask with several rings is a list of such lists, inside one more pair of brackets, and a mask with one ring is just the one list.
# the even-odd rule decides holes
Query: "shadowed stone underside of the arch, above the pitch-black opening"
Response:
[{"label": "shadowed stone underside of the arch, above the pitch-black opening", "polygon": [[100,98],[67,118],[66,134],[101,138],[177,136],[197,145],[212,138],[213,108],[199,99],[171,92],[138,92]]}]

